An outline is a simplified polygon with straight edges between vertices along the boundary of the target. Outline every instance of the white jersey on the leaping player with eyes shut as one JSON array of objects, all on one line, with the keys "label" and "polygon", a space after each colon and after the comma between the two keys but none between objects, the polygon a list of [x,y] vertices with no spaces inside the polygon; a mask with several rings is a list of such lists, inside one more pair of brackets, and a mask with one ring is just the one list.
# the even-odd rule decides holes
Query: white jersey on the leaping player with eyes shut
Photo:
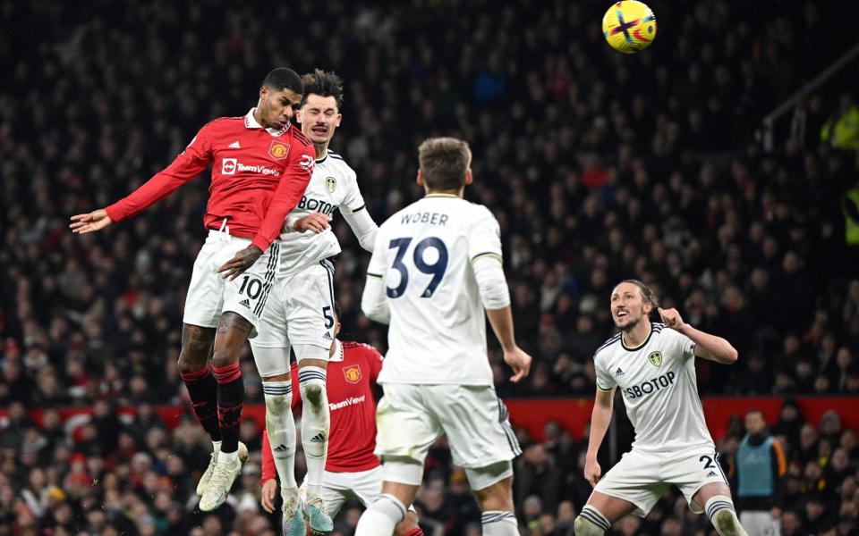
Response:
[{"label": "white jersey on the leaping player with eyes shut", "polygon": [[[325,158],[316,161],[302,200],[287,218],[294,221],[313,213],[333,217],[335,209],[341,214],[357,214],[366,207],[355,172],[342,156],[329,150]],[[280,235],[280,272],[294,272],[338,253],[340,243],[333,226],[319,234],[286,230]]]}]

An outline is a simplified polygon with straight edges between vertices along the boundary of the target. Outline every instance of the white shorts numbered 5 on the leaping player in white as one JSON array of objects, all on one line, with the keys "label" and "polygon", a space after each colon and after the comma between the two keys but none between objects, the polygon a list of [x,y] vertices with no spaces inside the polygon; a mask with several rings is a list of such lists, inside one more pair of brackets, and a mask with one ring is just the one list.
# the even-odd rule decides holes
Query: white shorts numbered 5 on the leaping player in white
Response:
[{"label": "white shorts numbered 5 on the leaping player in white", "polygon": [[[259,320],[259,335],[251,340],[259,375],[288,373],[291,345],[330,348],[334,322],[333,264],[320,261],[278,277]],[[258,348],[282,351],[258,352]]]}]

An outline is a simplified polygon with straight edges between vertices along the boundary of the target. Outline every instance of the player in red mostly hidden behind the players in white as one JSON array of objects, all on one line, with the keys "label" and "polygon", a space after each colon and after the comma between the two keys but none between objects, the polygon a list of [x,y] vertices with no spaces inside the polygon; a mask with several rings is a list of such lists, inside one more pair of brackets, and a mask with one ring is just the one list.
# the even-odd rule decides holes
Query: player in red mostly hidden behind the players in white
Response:
[{"label": "player in red mostly hidden behind the players in white", "polygon": [[[382,467],[373,454],[376,448],[376,401],[372,385],[382,370],[382,356],[370,345],[336,339],[340,331],[340,311],[335,308],[334,342],[331,343],[326,390],[331,410],[328,457],[323,475],[322,498],[328,514],[334,517],[350,498],[364,506],[372,504],[382,492]],[[298,367],[293,363],[293,407],[301,403]],[[275,459],[268,442],[262,438],[262,506],[275,509],[277,490]],[[396,527],[396,534],[422,536],[414,512]]]}]

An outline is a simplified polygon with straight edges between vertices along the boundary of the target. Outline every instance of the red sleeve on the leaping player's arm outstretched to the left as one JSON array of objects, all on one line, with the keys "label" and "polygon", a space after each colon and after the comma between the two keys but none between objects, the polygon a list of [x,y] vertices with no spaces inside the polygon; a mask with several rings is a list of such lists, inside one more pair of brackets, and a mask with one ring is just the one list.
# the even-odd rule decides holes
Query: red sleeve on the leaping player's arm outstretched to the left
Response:
[{"label": "red sleeve on the leaping player's arm outstretched to the left", "polygon": [[173,193],[184,183],[193,179],[208,167],[212,161],[211,145],[208,139],[208,123],[197,133],[182,154],[163,171],[157,172],[127,197],[123,197],[106,208],[111,222],[121,222],[140,214],[158,199]]}]

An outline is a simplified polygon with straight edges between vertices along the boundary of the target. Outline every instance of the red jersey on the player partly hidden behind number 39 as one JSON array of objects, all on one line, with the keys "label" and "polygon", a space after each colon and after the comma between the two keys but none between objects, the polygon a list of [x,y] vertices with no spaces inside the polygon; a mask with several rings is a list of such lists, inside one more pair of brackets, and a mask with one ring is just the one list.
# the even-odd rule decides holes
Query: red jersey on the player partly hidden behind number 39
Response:
[{"label": "red jersey on the player partly hidden behind number 39", "polygon": [[[376,348],[358,342],[340,341],[328,361],[326,392],[331,411],[328,458],[325,470],[357,473],[378,467],[376,448],[376,400],[371,386],[382,370],[382,355]],[[301,403],[298,366],[293,363],[293,407]],[[262,438],[262,478],[276,477],[268,434]]]}]

